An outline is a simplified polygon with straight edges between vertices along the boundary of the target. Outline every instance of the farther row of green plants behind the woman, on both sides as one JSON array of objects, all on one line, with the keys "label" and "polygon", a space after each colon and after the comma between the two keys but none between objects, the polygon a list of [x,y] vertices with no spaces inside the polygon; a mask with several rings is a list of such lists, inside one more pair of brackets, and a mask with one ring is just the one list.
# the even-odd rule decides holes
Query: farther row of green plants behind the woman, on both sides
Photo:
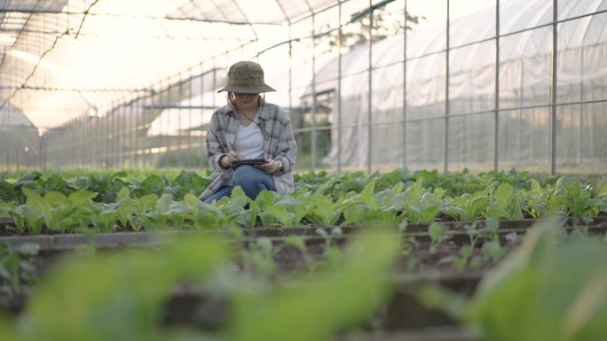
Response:
[{"label": "farther row of green plants behind the woman, on both sides", "polygon": [[[127,172],[109,173],[107,171],[57,171],[32,172],[28,174],[0,173],[0,200],[15,204],[24,204],[26,197],[22,188],[35,190],[38,194],[57,191],[66,196],[78,190],[98,193],[95,201],[112,203],[122,187],[127,186],[134,197],[147,194],[171,194],[176,200],[182,200],[185,193],[200,194],[217,174],[206,170],[193,171],[157,171],[130,170]],[[554,185],[561,176],[546,174],[529,174],[528,172],[510,171],[484,172],[469,174],[439,173],[437,170],[410,171],[398,168],[391,172],[374,172],[366,174],[362,171],[341,172],[329,174],[326,171],[304,172],[294,174],[296,190],[307,189],[312,192],[322,189],[336,199],[348,192],[360,192],[368,182],[374,182],[377,190],[392,188],[399,182],[406,187],[421,181],[424,187],[434,190],[445,190],[445,196],[456,197],[465,193],[482,191],[487,186],[498,182],[508,182],[516,190],[532,190],[534,186],[546,187]],[[584,186],[597,186],[604,177],[588,177],[579,179]],[[537,183],[536,183],[537,182]]]}]

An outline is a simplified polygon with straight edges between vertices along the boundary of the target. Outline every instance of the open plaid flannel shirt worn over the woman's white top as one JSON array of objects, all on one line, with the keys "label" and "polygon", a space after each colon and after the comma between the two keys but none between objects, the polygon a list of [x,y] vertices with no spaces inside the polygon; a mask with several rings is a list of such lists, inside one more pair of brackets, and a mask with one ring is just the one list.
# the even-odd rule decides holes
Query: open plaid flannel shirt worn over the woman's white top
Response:
[{"label": "open plaid flannel shirt worn over the woman's white top", "polygon": [[[284,166],[282,172],[272,174],[274,190],[279,194],[291,192],[295,189],[291,170],[297,156],[297,143],[293,136],[291,119],[279,105],[265,103],[260,110],[256,120],[264,120],[265,131],[269,135],[269,139],[264,140],[264,159],[281,161]],[[239,125],[238,114],[229,105],[213,112],[207,133],[207,160],[209,166],[221,174],[202,192],[201,200],[209,198],[222,186],[233,184],[233,169],[221,167],[219,159],[230,151]]]}]

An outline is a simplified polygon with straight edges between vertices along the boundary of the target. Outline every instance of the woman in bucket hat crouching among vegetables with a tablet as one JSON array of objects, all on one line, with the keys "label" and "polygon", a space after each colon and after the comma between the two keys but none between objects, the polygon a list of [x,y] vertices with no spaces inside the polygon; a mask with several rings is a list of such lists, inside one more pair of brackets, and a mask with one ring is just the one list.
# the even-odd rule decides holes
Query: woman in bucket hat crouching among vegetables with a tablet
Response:
[{"label": "woman in bucket hat crouching among vegetables with a tablet", "polygon": [[[212,203],[240,186],[248,198],[262,190],[294,190],[291,169],[297,144],[288,113],[265,103],[260,96],[276,91],[264,82],[264,70],[252,61],[240,61],[228,70],[227,105],[217,109],[207,133],[207,159],[220,176],[204,190],[201,200]],[[258,165],[236,167],[237,160],[263,159]]]}]

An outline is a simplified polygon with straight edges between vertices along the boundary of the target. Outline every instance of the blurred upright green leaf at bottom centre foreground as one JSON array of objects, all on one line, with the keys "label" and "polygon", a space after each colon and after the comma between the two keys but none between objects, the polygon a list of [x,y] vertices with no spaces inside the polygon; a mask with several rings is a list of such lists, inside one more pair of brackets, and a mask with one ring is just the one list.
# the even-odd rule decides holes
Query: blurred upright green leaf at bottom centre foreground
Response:
[{"label": "blurred upright green leaf at bottom centre foreground", "polygon": [[364,322],[388,297],[386,272],[398,252],[385,235],[360,236],[337,273],[302,285],[245,292],[227,331],[231,340],[328,340]]}]

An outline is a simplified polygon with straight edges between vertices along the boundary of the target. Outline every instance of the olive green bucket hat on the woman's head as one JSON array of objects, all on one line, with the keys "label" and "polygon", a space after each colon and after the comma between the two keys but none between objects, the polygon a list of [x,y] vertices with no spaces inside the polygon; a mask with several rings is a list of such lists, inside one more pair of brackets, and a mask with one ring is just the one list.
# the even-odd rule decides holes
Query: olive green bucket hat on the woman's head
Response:
[{"label": "olive green bucket hat on the woman's head", "polygon": [[252,61],[240,61],[230,66],[228,83],[217,92],[233,91],[246,94],[276,91],[264,82],[264,69]]}]

